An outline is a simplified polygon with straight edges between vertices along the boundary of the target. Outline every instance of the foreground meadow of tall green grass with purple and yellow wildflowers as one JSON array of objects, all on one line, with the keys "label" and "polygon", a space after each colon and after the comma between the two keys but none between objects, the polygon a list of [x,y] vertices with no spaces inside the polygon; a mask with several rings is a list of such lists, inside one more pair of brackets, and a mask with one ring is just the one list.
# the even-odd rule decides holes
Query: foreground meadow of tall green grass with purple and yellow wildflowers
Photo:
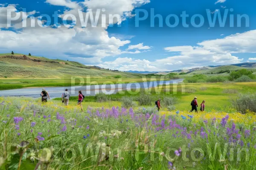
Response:
[{"label": "foreground meadow of tall green grass with purple and yellow wildflowers", "polygon": [[0,97],[1,169],[256,169],[255,113],[148,110]]}]

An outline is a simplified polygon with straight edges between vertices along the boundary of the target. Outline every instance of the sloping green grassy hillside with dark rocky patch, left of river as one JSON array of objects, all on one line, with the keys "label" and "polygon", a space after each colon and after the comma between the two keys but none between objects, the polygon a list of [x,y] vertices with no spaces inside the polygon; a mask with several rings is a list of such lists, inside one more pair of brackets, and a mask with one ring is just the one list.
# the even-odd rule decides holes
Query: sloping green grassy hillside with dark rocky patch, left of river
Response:
[{"label": "sloping green grassy hillside with dark rocky patch, left of river", "polygon": [[0,79],[5,78],[62,78],[85,77],[137,77],[139,74],[108,71],[95,66],[85,66],[79,62],[24,56],[23,54],[0,54]]}]

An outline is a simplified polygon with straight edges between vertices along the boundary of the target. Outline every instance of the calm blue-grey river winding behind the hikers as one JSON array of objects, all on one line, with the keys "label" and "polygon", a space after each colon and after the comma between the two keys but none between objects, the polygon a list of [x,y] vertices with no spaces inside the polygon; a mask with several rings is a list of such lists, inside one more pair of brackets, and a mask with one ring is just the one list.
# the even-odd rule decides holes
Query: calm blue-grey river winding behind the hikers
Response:
[{"label": "calm blue-grey river winding behind the hikers", "polygon": [[[125,91],[131,89],[141,89],[141,88],[152,88],[158,85],[169,85],[177,84],[182,82],[183,79],[172,79],[166,81],[154,81],[154,82],[138,82],[138,83],[125,83],[125,84],[115,84],[115,85],[85,85],[85,86],[75,86],[75,87],[48,87],[45,88],[50,98],[61,97],[64,90],[67,88],[70,92],[70,96],[78,96],[78,91],[82,91],[84,96],[95,96],[97,93],[102,92],[105,94],[116,94],[118,91]],[[41,97],[42,88],[20,88],[13,90],[3,90],[0,91],[0,96],[26,96],[38,98]]]}]

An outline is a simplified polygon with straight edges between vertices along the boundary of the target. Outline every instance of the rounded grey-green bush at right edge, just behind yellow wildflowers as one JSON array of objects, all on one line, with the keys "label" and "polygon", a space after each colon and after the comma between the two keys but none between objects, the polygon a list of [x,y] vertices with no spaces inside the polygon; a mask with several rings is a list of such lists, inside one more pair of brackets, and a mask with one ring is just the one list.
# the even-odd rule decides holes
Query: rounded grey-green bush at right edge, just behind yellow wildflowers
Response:
[{"label": "rounded grey-green bush at right edge, just behind yellow wildflowers", "polygon": [[243,114],[245,114],[247,110],[256,113],[256,93],[239,94],[238,98],[232,99],[232,104],[236,111]]}]

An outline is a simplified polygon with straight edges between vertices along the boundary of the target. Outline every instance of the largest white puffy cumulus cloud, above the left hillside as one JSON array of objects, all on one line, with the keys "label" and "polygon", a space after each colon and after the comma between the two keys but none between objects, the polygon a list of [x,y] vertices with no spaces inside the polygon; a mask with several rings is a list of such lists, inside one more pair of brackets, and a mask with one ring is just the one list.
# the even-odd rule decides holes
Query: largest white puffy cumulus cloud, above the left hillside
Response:
[{"label": "largest white puffy cumulus cloud, above the left hillside", "polygon": [[[46,3],[55,6],[64,6],[70,9],[64,11],[64,14],[74,14],[77,18],[79,16],[77,9],[81,7],[90,8],[93,11],[96,9],[105,8],[103,14],[119,14],[124,20],[125,17],[132,17],[131,11],[135,7],[148,3],[148,0],[84,0],[84,2],[76,2],[71,0],[47,0]],[[79,6],[82,4],[82,6]],[[17,9],[14,6],[0,8],[0,28],[6,27],[6,10],[7,8]],[[88,11],[82,11],[86,15]],[[31,11],[24,15],[29,16],[37,13]],[[15,15],[15,13],[14,13]],[[12,16],[13,17],[13,16]],[[61,18],[64,17],[62,14]],[[53,25],[47,28],[44,22],[41,23],[42,18],[27,17],[27,27],[22,27],[22,16],[19,20],[13,22],[15,31],[0,30],[0,41],[5,42],[0,45],[0,48],[6,51],[20,51],[20,53],[30,52],[33,54],[44,54],[45,57],[62,59],[70,59],[79,61],[84,64],[99,64],[102,63],[102,58],[107,56],[116,56],[122,54],[119,49],[123,45],[130,43],[130,40],[120,40],[114,36],[110,36],[106,30],[109,26],[107,23],[105,27],[97,25],[92,27],[89,25],[82,28],[81,24],[66,28],[63,25]],[[118,20],[113,20],[112,23],[117,23]],[[35,23],[35,28],[33,28]],[[23,29],[20,29],[23,28]],[[140,53],[135,51],[129,53]]]}]

